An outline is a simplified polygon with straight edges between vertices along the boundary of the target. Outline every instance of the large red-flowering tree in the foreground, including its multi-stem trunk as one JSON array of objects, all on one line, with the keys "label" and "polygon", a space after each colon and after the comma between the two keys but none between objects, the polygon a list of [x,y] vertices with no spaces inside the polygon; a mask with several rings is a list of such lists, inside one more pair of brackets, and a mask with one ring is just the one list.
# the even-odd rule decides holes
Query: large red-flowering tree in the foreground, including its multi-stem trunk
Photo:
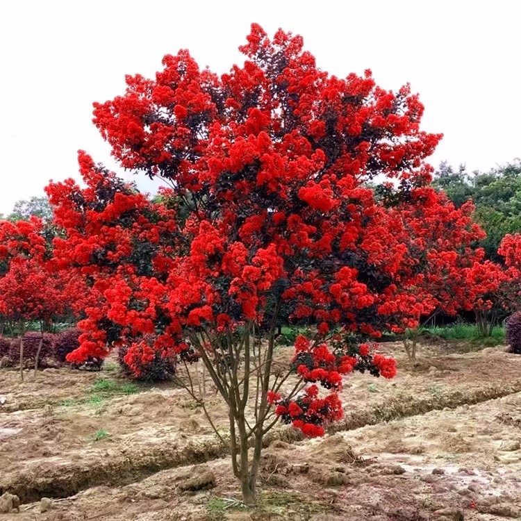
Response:
[{"label": "large red-flowering tree in the foreground, including its multi-stem trunk", "polygon": [[[251,504],[277,420],[320,436],[342,415],[345,374],[395,374],[368,342],[403,311],[385,305],[410,275],[410,241],[367,181],[385,176],[388,199],[422,204],[440,135],[420,131],[408,87],[383,90],[369,71],[330,76],[299,36],[270,40],[253,25],[241,50],[245,64],[223,76],[188,51],[165,56],[155,79],[128,76],[122,96],[95,104],[119,164],[162,178],[165,197],[149,201],[83,152],[86,188],[47,193],[63,229],[57,259],[95,301],[67,358],[122,342],[135,371],[156,352],[175,356],[198,401],[189,375],[200,360],[229,408],[233,472]],[[317,324],[285,366],[274,361],[282,308]]]}]

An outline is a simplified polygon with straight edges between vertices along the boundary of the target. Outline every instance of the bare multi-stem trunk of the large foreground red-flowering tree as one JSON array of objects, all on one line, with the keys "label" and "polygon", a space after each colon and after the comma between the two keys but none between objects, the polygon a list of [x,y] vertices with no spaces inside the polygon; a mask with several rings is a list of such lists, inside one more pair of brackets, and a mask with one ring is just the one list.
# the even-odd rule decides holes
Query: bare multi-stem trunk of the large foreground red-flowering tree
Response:
[{"label": "bare multi-stem trunk of the large foreground red-flowering tree", "polygon": [[[278,392],[292,374],[290,368],[286,374],[279,374],[271,379],[278,311],[277,305],[267,333],[267,345],[261,342],[260,326],[253,322],[247,322],[239,335],[236,332],[232,334],[231,331],[223,335],[222,332],[206,329],[201,333],[189,333],[208,376],[228,406],[233,474],[240,482],[242,500],[248,505],[256,502],[263,438],[278,420],[270,410],[268,392]],[[252,337],[256,329],[259,333],[257,338]],[[195,397],[192,379],[190,376],[188,379],[189,385],[184,387]],[[299,379],[288,399],[295,396],[300,389]],[[204,406],[204,400],[199,401],[217,437],[224,442]]]}]

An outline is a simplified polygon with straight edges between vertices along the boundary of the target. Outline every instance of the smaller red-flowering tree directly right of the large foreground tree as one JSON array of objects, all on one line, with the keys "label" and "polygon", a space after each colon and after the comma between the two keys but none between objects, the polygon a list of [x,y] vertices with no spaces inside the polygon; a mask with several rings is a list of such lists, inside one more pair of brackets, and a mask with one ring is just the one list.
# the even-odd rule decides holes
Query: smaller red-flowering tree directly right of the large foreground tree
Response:
[{"label": "smaller red-flowering tree directly right of the large foreground tree", "polygon": [[497,288],[488,279],[495,265],[483,263],[484,251],[476,246],[484,233],[473,221],[472,202],[456,208],[443,192],[432,188],[415,190],[412,198],[390,212],[390,223],[399,223],[392,225],[393,231],[402,233],[407,245],[408,268],[399,287],[393,288],[393,298],[379,308],[395,322],[389,324],[392,331],[406,331],[404,345],[410,359],[416,356],[420,326],[433,315],[479,313],[486,307],[485,295]]}]

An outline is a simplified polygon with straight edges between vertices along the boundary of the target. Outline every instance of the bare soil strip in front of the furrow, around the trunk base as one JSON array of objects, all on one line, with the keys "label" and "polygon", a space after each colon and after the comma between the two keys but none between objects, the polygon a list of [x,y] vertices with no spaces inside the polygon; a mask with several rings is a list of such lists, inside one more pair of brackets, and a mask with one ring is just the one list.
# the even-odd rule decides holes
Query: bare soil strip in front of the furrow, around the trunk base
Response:
[{"label": "bare soil strip in front of the furrow, around the trunk base", "polygon": [[[224,508],[236,494],[226,459],[100,486],[6,520],[508,520],[521,515],[521,393],[454,411],[276,442],[263,459],[254,511]],[[352,447],[356,447],[353,451]],[[215,488],[184,490],[212,474]],[[24,511],[23,508],[30,508]]]}]

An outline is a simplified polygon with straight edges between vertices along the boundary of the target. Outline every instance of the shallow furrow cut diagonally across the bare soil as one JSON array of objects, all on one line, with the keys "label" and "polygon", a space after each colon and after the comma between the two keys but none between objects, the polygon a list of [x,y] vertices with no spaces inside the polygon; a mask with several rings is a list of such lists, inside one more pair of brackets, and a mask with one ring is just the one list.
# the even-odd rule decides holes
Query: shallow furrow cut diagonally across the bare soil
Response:
[{"label": "shallow furrow cut diagonally across the bare soil", "polygon": [[[521,392],[521,379],[468,390],[447,390],[429,398],[402,395],[400,399],[388,399],[361,411],[347,411],[341,422],[329,427],[329,433],[452,409],[463,404],[479,404],[517,392]],[[272,431],[265,443],[270,445],[274,440],[293,443],[301,440],[301,436],[294,429],[281,427]],[[16,494],[22,502],[32,502],[41,497],[68,497],[92,486],[131,483],[167,468],[210,461],[226,456],[228,451],[228,447],[217,443],[214,437],[199,436],[197,441],[183,445],[156,443],[139,450],[132,447],[110,449],[103,459],[88,464],[77,463],[72,458],[28,461],[19,472],[7,478],[0,477],[0,494],[6,491]]]}]

